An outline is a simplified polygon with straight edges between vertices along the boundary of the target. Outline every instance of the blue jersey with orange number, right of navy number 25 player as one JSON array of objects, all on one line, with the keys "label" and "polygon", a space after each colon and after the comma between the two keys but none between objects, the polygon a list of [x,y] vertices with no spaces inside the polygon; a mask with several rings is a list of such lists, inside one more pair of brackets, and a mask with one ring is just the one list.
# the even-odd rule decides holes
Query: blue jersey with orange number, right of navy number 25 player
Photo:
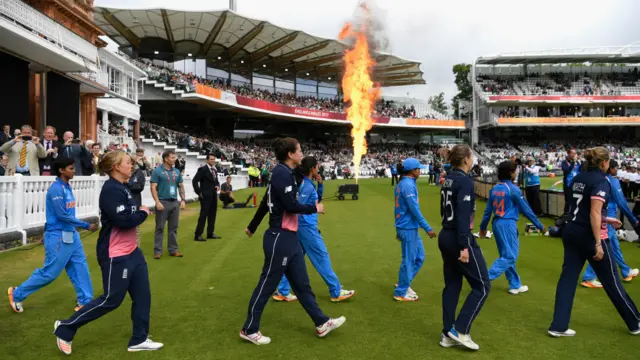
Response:
[{"label": "blue jersey with orange number, right of navy number 25 player", "polygon": [[511,181],[501,182],[494,186],[489,193],[480,230],[487,230],[492,214],[494,221],[496,219],[518,221],[519,212],[534,223],[538,229],[544,229],[544,225],[540,223],[529,204],[522,197],[520,189]]}]

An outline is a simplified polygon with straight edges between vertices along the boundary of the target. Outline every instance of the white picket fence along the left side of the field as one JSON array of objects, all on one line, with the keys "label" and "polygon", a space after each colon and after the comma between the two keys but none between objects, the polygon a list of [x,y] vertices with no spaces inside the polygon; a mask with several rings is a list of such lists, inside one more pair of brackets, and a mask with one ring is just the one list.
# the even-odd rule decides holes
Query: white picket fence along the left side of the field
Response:
[{"label": "white picket fence along the left side of the field", "polygon": [[[220,183],[226,181],[224,175]],[[99,217],[98,199],[106,176],[78,176],[71,180],[76,198],[76,216],[80,219]],[[142,204],[153,207],[149,178],[142,192]],[[192,177],[184,177],[187,201],[197,199]],[[27,237],[41,234],[46,221],[45,200],[47,190],[55,181],[53,176],[2,176],[0,177],[0,242],[21,240],[26,245]],[[234,190],[249,186],[249,177],[233,175]],[[1,247],[0,247],[1,248]]]}]

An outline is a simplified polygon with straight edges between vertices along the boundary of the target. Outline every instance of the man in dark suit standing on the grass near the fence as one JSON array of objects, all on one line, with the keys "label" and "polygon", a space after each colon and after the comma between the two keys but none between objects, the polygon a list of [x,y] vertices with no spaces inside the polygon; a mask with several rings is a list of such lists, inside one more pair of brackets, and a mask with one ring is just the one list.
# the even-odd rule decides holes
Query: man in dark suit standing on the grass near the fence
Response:
[{"label": "man in dark suit standing on the grass near the fence", "polygon": [[214,167],[216,157],[213,154],[207,155],[207,163],[201,166],[193,177],[193,190],[200,199],[200,217],[196,227],[195,241],[206,241],[202,237],[204,223],[207,222],[207,239],[220,239],[215,234],[216,213],[218,212],[218,172]]}]

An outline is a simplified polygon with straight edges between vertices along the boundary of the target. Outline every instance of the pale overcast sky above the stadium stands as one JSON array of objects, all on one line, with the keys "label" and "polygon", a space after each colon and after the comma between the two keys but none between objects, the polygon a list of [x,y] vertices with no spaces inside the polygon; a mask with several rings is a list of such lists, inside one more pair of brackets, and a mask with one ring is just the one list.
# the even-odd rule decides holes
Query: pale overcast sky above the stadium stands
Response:
[{"label": "pale overcast sky above the stadium stands", "polygon": [[[359,0],[237,0],[238,13],[312,35],[336,38]],[[385,94],[427,99],[455,95],[451,69],[482,55],[617,46],[640,40],[640,0],[377,0],[394,55],[417,60],[427,85]],[[96,6],[203,11],[228,0],[97,0]]]}]

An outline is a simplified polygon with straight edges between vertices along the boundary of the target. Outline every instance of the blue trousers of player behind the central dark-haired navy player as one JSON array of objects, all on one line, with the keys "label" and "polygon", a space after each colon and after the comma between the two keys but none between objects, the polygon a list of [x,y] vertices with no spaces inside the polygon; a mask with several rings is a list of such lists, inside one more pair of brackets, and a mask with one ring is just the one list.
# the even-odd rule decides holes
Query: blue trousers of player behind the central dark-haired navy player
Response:
[{"label": "blue trousers of player behind the central dark-haired navy player", "polygon": [[[309,256],[311,264],[316,268],[327,287],[329,287],[330,296],[332,298],[339,297],[342,285],[340,285],[338,275],[331,267],[331,258],[329,258],[329,252],[324,244],[322,235],[320,235],[320,231],[315,227],[301,226],[298,228],[298,239],[302,245],[302,250]],[[291,292],[289,280],[285,275],[282,276],[280,284],[278,284],[278,292],[284,296],[289,295]]]}]

